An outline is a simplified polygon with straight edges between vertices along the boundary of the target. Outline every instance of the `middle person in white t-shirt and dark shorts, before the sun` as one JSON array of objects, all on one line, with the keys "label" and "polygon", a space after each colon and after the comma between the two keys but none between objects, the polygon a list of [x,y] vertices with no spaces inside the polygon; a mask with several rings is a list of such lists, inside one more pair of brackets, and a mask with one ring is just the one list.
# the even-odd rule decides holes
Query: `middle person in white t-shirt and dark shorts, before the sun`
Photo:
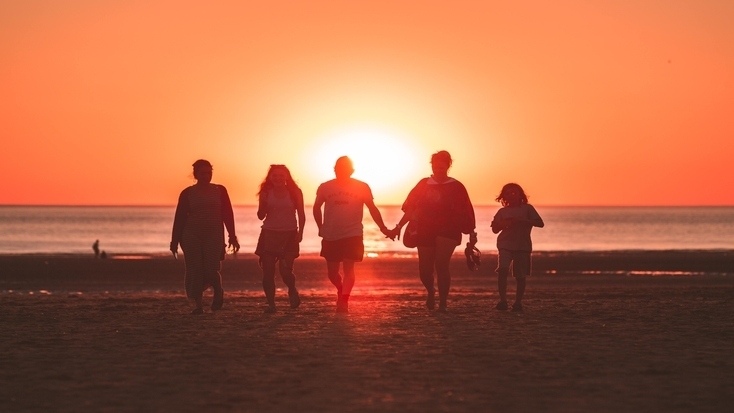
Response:
[{"label": "middle person in white t-shirt and dark shorts, before the sun", "polygon": [[322,183],[316,190],[313,216],[322,238],[320,255],[326,259],[329,280],[337,291],[336,312],[347,313],[355,282],[354,264],[364,258],[364,206],[367,206],[380,231],[391,238],[393,235],[385,227],[382,215],[375,206],[372,189],[366,183],[352,178],[352,160],[347,156],[337,159],[334,173],[336,179]]}]

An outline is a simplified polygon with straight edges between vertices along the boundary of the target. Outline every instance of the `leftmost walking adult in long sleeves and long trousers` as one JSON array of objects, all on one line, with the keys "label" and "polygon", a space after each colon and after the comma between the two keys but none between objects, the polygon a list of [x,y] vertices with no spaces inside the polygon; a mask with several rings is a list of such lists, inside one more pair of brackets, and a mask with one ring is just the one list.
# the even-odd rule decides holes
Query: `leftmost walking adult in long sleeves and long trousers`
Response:
[{"label": "leftmost walking adult in long sleeves and long trousers", "polygon": [[193,301],[192,314],[203,314],[202,296],[209,287],[214,292],[212,310],[222,308],[224,289],[219,273],[224,259],[224,227],[229,234],[229,246],[235,252],[240,244],[234,227],[234,212],[227,189],[211,183],[212,165],[199,159],[193,164],[196,184],[185,188],[178,197],[171,233],[171,252],[184,252],[186,296]]}]

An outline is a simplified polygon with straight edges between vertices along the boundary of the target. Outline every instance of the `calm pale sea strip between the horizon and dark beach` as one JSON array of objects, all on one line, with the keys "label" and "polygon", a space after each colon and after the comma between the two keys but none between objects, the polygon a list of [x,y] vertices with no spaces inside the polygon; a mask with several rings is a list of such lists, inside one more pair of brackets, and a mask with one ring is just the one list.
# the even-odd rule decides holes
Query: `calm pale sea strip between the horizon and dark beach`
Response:
[{"label": "calm pale sea strip between the horizon and dark beach", "polygon": [[[734,207],[536,207],[545,228],[533,229],[536,251],[734,249]],[[0,206],[0,254],[92,253],[166,254],[173,206]],[[399,207],[381,207],[392,227]],[[495,249],[489,229],[496,206],[476,208],[478,247]],[[307,207],[307,220],[310,208]],[[260,224],[256,207],[235,208],[242,252],[255,250]],[[383,238],[365,211],[368,252],[414,252]],[[318,253],[320,238],[307,221],[301,252]]]}]

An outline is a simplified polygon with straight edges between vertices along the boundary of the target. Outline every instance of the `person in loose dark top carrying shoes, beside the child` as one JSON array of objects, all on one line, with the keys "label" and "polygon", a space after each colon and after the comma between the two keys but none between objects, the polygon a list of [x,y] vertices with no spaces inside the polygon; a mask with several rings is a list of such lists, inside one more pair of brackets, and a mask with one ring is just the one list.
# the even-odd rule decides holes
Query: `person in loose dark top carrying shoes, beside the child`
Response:
[{"label": "person in loose dark top carrying shoes, beside the child", "polygon": [[464,185],[448,176],[453,160],[447,151],[431,155],[433,174],[421,179],[410,191],[403,203],[403,217],[392,230],[400,235],[408,222],[417,231],[418,269],[428,298],[426,307],[436,305],[434,272],[438,281],[438,310],[446,311],[446,301],[451,287],[449,263],[456,247],[461,244],[462,233],[469,235],[469,244],[477,243],[474,207]]}]

